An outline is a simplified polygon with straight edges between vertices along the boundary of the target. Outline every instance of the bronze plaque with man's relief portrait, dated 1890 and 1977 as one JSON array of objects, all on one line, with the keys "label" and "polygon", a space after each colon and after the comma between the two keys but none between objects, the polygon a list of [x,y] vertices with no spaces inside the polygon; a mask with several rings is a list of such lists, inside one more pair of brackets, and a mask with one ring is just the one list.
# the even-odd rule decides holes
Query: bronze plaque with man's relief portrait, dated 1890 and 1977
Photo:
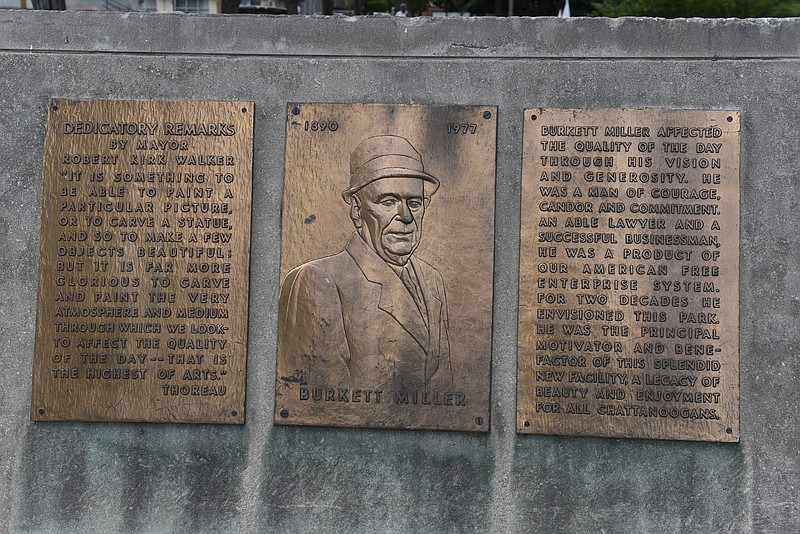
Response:
[{"label": "bronze plaque with man's relief portrait, dated 1890 and 1977", "polygon": [[276,423],[488,430],[495,117],[288,106]]}]

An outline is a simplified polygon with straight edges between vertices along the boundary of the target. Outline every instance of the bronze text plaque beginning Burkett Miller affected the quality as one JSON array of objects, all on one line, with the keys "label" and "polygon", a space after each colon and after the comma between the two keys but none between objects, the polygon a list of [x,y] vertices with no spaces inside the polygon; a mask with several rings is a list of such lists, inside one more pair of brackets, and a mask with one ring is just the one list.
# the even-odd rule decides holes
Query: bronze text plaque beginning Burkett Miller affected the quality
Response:
[{"label": "bronze text plaque beginning Burkett Miller affected the quality", "polygon": [[525,111],[517,431],[739,440],[739,113]]}]

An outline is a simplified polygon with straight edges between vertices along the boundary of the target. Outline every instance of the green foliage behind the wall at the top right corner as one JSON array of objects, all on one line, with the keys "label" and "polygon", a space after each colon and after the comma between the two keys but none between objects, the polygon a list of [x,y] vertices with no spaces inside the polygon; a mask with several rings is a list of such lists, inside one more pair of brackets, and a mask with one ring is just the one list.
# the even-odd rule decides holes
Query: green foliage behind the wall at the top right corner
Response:
[{"label": "green foliage behind the wall at the top right corner", "polygon": [[605,0],[592,4],[603,17],[753,18],[800,16],[800,0]]}]

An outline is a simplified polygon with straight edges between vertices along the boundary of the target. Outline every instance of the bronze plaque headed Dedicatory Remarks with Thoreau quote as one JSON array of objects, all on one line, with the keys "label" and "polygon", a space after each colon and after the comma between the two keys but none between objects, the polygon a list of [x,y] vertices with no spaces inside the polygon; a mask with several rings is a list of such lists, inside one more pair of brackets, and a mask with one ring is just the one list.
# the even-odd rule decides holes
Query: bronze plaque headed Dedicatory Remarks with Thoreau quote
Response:
[{"label": "bronze plaque headed Dedicatory Remarks with Thoreau quote", "polygon": [[50,102],[31,419],[244,422],[252,132],[252,102]]}]

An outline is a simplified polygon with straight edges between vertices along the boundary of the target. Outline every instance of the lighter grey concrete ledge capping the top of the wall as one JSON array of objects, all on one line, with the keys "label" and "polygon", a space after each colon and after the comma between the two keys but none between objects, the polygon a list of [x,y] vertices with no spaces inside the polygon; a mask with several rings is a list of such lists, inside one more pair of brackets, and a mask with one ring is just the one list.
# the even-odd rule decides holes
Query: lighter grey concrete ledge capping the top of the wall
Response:
[{"label": "lighter grey concrete ledge capping the top of the wall", "polygon": [[796,58],[796,28],[793,19],[3,11],[0,50],[375,58]]}]

